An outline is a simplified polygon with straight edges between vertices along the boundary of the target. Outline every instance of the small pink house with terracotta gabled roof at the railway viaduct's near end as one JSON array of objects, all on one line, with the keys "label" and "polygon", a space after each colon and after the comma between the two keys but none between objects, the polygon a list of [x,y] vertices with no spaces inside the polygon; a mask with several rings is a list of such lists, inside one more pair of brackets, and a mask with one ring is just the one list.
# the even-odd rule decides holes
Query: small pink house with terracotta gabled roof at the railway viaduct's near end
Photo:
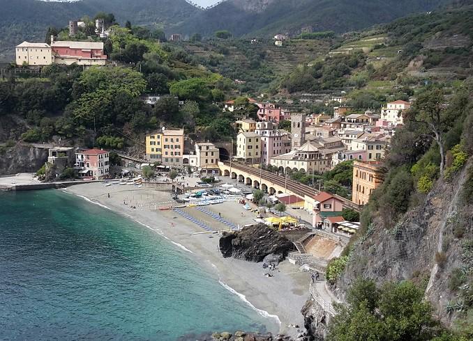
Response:
[{"label": "small pink house with terracotta gabled roof at the railway viaduct's near end", "polygon": [[342,202],[330,193],[320,192],[313,197],[315,200],[312,225],[315,228],[331,230],[331,224],[343,221]]}]

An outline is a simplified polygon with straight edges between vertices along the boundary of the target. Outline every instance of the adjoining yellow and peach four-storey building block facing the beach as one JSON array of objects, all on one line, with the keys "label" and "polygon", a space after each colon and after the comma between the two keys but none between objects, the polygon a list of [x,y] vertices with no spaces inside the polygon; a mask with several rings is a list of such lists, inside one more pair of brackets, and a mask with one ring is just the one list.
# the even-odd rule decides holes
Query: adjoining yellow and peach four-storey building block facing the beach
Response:
[{"label": "adjoining yellow and peach four-storey building block facing the beach", "polygon": [[163,130],[146,136],[147,160],[165,166],[181,166],[184,151],[184,130]]}]

